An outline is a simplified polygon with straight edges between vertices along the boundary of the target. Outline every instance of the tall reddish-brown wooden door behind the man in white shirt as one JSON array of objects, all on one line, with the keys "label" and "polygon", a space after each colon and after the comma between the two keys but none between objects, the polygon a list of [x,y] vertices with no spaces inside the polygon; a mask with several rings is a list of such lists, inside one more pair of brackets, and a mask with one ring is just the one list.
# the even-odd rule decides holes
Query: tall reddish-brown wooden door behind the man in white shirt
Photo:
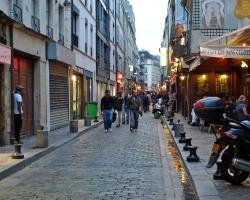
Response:
[{"label": "tall reddish-brown wooden door behind the man in white shirt", "polygon": [[21,135],[31,135],[34,132],[34,103],[33,103],[33,64],[32,60],[14,57],[14,84],[22,85],[23,124]]}]

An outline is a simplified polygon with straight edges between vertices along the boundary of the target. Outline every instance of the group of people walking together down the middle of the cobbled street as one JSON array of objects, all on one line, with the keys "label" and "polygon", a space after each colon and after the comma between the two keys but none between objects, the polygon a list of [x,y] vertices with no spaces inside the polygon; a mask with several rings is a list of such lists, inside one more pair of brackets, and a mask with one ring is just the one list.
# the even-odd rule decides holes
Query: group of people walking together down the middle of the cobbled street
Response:
[{"label": "group of people walking together down the middle of the cobbled street", "polygon": [[132,92],[131,95],[122,95],[117,92],[115,97],[112,97],[109,90],[105,91],[104,97],[101,99],[101,111],[104,119],[105,132],[112,131],[113,117],[116,115],[116,127],[122,124],[130,124],[130,131],[137,131],[139,115],[142,111],[149,111],[151,96],[149,93]]}]

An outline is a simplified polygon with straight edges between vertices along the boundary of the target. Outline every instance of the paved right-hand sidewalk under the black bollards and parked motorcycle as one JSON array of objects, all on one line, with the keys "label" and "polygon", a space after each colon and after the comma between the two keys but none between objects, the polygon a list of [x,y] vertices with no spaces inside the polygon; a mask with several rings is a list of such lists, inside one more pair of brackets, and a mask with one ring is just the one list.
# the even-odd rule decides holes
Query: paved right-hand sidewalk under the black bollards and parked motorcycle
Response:
[{"label": "paved right-hand sidewalk under the black bollards and parked motorcycle", "polygon": [[232,186],[223,180],[214,180],[213,174],[216,171],[216,165],[208,169],[206,168],[207,161],[209,159],[211,148],[215,141],[215,136],[213,133],[208,133],[207,131],[200,131],[198,127],[193,127],[187,124],[187,121],[180,115],[176,114],[175,120],[180,120],[184,123],[184,130],[186,132],[186,138],[192,138],[192,145],[198,146],[197,155],[200,157],[200,162],[189,163],[186,161],[186,157],[189,152],[183,151],[183,144],[179,144],[179,138],[174,137],[174,131],[171,130],[172,137],[175,141],[178,151],[182,156],[185,167],[188,169],[189,175],[195,185],[196,193],[199,199],[204,200],[235,200],[240,197],[240,199],[250,199],[249,180],[245,181],[240,186]]}]

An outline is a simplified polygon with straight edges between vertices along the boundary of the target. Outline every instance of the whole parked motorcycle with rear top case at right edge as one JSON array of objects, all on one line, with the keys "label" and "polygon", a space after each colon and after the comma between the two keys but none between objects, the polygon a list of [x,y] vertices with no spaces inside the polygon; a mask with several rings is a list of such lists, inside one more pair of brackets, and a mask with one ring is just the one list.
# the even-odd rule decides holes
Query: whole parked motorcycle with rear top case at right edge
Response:
[{"label": "whole parked motorcycle with rear top case at right edge", "polygon": [[195,112],[208,123],[222,124],[217,130],[212,129],[216,141],[207,168],[221,158],[220,170],[225,181],[234,185],[245,181],[250,174],[250,122],[239,122],[223,115],[224,105],[217,97],[196,102]]}]

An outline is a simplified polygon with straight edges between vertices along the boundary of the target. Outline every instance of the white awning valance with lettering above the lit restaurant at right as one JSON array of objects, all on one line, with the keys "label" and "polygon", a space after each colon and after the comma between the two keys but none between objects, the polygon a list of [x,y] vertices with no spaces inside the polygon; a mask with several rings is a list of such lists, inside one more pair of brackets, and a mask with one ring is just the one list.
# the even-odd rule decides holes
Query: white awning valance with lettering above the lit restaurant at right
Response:
[{"label": "white awning valance with lettering above the lit restaurant at right", "polygon": [[200,55],[205,57],[216,57],[216,58],[250,59],[250,47],[203,46],[200,47]]}]

